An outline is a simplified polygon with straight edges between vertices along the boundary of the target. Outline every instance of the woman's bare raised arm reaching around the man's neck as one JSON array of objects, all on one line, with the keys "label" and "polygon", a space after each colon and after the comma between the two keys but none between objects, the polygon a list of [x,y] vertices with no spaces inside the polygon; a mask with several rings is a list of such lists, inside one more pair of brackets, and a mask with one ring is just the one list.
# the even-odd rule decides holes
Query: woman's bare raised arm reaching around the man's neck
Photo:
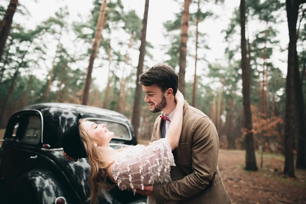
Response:
[{"label": "woman's bare raised arm reaching around the man's neck", "polygon": [[175,100],[176,107],[174,109],[173,117],[165,137],[171,146],[171,150],[175,149],[179,145],[182,132],[184,96],[181,91],[177,90],[175,94]]}]

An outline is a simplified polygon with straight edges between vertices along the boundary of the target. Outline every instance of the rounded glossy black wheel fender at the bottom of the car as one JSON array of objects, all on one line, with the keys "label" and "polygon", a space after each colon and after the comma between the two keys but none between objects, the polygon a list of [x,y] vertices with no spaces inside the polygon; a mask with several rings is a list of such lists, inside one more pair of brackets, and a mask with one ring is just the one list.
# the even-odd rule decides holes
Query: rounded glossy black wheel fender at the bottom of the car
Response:
[{"label": "rounded glossy black wheel fender at the bottom of the car", "polygon": [[56,177],[45,169],[32,169],[19,177],[14,185],[12,203],[54,203],[64,197],[72,203],[64,187]]}]

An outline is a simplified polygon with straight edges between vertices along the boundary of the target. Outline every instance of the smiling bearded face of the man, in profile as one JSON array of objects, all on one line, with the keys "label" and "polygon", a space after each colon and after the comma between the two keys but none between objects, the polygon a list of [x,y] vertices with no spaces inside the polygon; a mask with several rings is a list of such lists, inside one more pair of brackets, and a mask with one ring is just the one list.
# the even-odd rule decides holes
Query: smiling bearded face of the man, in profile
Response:
[{"label": "smiling bearded face of the man, in profile", "polygon": [[145,93],[144,101],[149,104],[150,111],[157,113],[162,111],[167,106],[167,99],[162,89],[157,85],[142,86]]}]

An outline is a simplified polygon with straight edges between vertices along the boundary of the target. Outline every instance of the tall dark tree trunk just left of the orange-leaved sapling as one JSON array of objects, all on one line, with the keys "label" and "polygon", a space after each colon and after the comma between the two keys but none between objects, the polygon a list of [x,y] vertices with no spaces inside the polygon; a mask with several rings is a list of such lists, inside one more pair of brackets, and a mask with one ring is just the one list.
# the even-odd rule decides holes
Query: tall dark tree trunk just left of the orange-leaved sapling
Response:
[{"label": "tall dark tree trunk just left of the orange-leaved sapling", "polygon": [[242,69],[242,93],[243,107],[245,115],[245,169],[258,170],[255,158],[252,113],[250,108],[250,67],[246,57],[246,39],[245,39],[245,0],[240,0],[240,25],[241,25],[241,69]]}]

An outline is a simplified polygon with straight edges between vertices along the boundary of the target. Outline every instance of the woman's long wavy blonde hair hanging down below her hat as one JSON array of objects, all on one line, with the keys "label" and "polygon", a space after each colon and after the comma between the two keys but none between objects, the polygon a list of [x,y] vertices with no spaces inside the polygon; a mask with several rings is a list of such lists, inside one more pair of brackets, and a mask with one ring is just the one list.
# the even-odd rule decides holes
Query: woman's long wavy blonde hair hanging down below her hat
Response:
[{"label": "woman's long wavy blonde hair hanging down below her hat", "polygon": [[80,127],[80,136],[83,141],[89,164],[91,166],[90,175],[89,175],[89,186],[90,186],[90,200],[91,204],[97,203],[97,198],[102,189],[110,190],[113,186],[106,183],[106,172],[103,169],[108,168],[112,165],[113,162],[110,162],[108,158],[101,158],[100,152],[94,146],[91,137],[84,130],[84,127],[81,125],[82,122],[86,120],[79,120]]}]

